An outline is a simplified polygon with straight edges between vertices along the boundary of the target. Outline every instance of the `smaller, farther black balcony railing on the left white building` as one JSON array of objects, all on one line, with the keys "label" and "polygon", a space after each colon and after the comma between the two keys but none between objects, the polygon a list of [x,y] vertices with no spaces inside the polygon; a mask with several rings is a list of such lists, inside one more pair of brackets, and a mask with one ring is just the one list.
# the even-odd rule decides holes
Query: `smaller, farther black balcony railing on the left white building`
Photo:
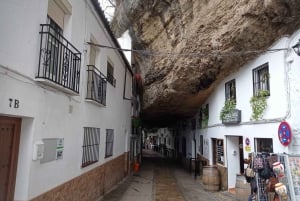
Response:
[{"label": "smaller, farther black balcony railing on the left white building", "polygon": [[88,65],[87,97],[88,100],[106,105],[107,79],[94,65]]}]

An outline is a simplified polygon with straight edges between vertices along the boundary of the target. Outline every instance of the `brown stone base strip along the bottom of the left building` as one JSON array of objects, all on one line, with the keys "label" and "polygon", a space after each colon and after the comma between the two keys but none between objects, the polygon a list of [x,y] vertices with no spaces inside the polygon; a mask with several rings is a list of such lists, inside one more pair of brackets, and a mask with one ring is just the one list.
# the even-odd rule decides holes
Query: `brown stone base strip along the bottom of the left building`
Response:
[{"label": "brown stone base strip along the bottom of the left building", "polygon": [[93,201],[109,191],[128,173],[125,153],[89,172],[86,172],[31,201]]}]

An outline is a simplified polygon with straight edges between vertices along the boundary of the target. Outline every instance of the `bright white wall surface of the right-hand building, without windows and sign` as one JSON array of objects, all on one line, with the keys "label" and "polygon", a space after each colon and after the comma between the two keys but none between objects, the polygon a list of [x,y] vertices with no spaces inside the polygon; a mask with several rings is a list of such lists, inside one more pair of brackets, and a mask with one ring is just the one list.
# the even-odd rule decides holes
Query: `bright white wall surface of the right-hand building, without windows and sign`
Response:
[{"label": "bright white wall surface of the right-hand building, without windows and sign", "polygon": [[[235,140],[238,138],[234,136],[243,137],[244,158],[248,157],[245,149],[246,138],[250,139],[250,152],[256,151],[255,138],[272,138],[273,151],[276,153],[299,153],[300,151],[300,120],[298,118],[300,112],[300,57],[291,50],[299,38],[300,31],[290,37],[282,37],[269,49],[283,48],[286,50],[268,52],[248,62],[236,73],[226,77],[206,101],[209,104],[208,128],[197,130],[197,134],[204,136],[203,155],[210,161],[212,161],[211,138],[225,140],[224,136],[228,136],[224,154],[225,166],[228,168],[229,188],[234,187],[235,175],[239,173],[239,158],[232,155],[233,149],[238,148],[238,141]],[[252,70],[267,62],[269,63],[271,95],[267,98],[268,106],[263,119],[253,122],[250,120],[252,110],[249,102],[253,94]],[[225,126],[219,116],[225,102],[225,83],[232,79],[236,81],[236,108],[242,111],[242,118],[240,124]],[[197,116],[198,114],[195,115],[195,118]],[[287,121],[292,128],[292,143],[287,147],[283,146],[278,139],[278,126],[282,121]],[[186,132],[185,135],[190,136],[190,133]],[[237,163],[231,163],[231,161],[237,161]]]}]

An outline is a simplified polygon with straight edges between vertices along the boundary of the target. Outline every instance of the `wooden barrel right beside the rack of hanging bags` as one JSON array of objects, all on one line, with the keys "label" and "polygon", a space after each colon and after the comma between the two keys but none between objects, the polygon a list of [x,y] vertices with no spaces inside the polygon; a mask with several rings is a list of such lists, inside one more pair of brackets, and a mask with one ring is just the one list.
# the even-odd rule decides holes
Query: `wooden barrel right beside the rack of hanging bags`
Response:
[{"label": "wooden barrel right beside the rack of hanging bags", "polygon": [[236,198],[239,200],[248,199],[251,193],[251,188],[250,188],[250,184],[247,183],[244,175],[236,175],[235,193],[236,193]]}]

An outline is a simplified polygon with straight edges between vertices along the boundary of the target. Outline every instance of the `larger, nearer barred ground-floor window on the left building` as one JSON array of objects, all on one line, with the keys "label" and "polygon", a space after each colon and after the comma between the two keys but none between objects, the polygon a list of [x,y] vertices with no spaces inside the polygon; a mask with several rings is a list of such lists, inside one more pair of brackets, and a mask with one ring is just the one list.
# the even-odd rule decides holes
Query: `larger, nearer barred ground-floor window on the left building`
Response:
[{"label": "larger, nearer barred ground-floor window on the left building", "polygon": [[81,167],[99,161],[100,128],[84,128]]}]

